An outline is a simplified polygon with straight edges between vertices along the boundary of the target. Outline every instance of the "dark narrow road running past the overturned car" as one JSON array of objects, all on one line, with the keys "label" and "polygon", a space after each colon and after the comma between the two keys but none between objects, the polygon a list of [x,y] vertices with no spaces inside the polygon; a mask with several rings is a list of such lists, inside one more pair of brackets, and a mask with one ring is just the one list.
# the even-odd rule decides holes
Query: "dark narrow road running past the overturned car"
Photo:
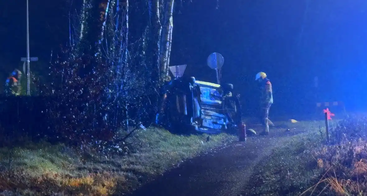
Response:
[{"label": "dark narrow road running past the overturned car", "polygon": [[141,186],[131,196],[237,196],[257,163],[266,161],[273,148],[302,132],[278,130],[269,136],[249,137],[246,142],[226,145],[186,161]]}]

